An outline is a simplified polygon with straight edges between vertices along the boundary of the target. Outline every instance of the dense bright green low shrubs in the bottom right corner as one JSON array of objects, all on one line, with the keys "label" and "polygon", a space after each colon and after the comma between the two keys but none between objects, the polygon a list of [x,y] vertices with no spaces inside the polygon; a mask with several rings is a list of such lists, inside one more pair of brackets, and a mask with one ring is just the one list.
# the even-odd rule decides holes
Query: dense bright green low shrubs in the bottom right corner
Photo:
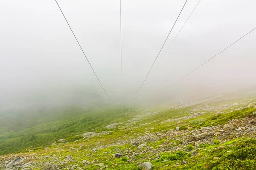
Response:
[{"label": "dense bright green low shrubs in the bottom right corner", "polygon": [[[256,168],[255,152],[256,139],[247,139],[236,145],[227,145],[210,150],[208,154],[201,154],[196,159],[196,164],[184,167],[183,170],[253,170]],[[207,159],[201,159],[206,155]]]}]

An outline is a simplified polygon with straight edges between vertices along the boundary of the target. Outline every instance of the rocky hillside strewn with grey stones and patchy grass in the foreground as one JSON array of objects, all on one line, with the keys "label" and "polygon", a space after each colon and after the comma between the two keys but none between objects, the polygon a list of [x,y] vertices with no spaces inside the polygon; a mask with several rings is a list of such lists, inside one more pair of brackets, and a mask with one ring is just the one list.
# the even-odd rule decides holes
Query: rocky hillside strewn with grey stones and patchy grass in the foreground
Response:
[{"label": "rocky hillside strewn with grey stones and patchy grass in the foreground", "polygon": [[125,113],[101,130],[0,156],[0,170],[253,170],[256,98]]}]

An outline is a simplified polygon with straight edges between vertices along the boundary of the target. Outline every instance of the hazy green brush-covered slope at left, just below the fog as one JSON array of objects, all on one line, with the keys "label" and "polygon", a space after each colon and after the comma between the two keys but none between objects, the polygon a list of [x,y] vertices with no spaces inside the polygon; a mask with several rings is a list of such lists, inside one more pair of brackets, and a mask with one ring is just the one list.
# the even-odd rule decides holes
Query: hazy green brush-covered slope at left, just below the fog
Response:
[{"label": "hazy green brush-covered slope at left, just below the fog", "polygon": [[107,131],[105,125],[115,119],[125,119],[131,116],[128,114],[131,112],[130,108],[121,107],[83,109],[70,106],[49,113],[45,110],[23,115],[13,113],[13,117],[7,115],[1,119],[0,129],[4,132],[0,134],[0,155],[28,147],[47,146],[62,138],[65,142],[76,141],[82,139],[76,135],[84,132]]}]

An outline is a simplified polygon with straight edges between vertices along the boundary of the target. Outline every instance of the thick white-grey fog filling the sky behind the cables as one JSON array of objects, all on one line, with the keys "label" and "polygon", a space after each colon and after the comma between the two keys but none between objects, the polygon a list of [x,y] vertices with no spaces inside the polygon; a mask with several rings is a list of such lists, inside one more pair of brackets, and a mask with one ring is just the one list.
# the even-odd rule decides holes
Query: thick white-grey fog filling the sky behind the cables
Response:
[{"label": "thick white-grey fog filling the sky behind the cables", "polygon": [[[192,101],[256,84],[256,31],[164,90],[256,27],[255,0],[58,0],[114,104]],[[1,0],[0,110],[112,104],[55,0]],[[163,59],[160,61],[160,59]],[[159,62],[160,61],[160,62]]]}]

